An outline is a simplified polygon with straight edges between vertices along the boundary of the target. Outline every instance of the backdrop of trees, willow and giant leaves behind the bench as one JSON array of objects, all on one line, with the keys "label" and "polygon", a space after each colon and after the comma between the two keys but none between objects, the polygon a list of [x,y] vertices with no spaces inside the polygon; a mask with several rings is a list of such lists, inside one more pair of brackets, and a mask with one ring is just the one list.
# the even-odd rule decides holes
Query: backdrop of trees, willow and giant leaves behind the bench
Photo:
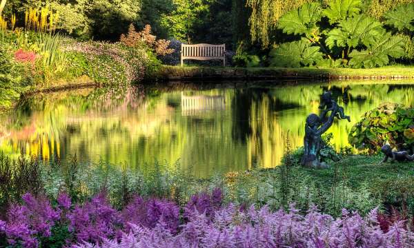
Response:
[{"label": "backdrop of trees, willow and giant leaves behind the bench", "polygon": [[226,43],[241,67],[375,68],[411,63],[413,6],[411,0],[10,0],[5,13],[21,25],[29,8],[44,8],[54,29],[78,39],[117,41],[131,23],[150,25],[162,39]]}]

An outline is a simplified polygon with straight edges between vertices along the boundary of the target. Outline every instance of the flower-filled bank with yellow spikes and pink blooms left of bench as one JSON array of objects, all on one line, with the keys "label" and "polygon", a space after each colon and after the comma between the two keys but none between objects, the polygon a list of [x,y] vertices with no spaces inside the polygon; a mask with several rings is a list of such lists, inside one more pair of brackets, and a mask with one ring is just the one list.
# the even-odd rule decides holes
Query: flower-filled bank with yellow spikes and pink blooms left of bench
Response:
[{"label": "flower-filled bank with yellow spikes and pink blooms left of bench", "polygon": [[[77,41],[55,32],[52,23],[57,21],[57,12],[43,8],[26,14],[24,30],[14,28],[10,21],[6,21],[8,30],[0,29],[2,107],[10,107],[22,93],[39,87],[141,81],[159,67],[159,56],[172,52],[169,41],[155,39],[149,25],[142,32],[131,30],[139,35],[124,37],[121,43]],[[141,34],[146,40],[141,41]],[[131,39],[139,42],[130,45]]]}]

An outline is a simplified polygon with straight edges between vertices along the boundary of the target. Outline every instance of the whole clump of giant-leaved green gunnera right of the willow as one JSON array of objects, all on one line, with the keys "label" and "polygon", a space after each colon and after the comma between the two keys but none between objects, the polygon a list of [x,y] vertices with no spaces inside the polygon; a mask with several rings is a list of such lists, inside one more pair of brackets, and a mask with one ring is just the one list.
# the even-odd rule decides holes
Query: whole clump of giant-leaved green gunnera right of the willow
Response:
[{"label": "whole clump of giant-leaved green gunnera right of the willow", "polygon": [[[273,48],[270,65],[375,68],[388,65],[390,58],[405,56],[406,41],[386,32],[382,23],[362,13],[362,7],[360,0],[332,0],[326,8],[319,3],[305,3],[297,10],[286,12],[277,27],[302,39]],[[393,15],[388,17],[388,23],[400,28],[401,23],[391,21]],[[322,17],[328,19],[329,25],[322,24]]]}]

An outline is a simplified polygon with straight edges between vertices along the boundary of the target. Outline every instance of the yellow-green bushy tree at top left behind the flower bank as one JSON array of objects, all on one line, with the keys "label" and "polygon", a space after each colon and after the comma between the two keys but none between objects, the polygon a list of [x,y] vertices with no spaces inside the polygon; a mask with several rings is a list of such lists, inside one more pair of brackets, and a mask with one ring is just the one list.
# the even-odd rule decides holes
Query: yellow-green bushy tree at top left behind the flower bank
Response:
[{"label": "yellow-green bushy tree at top left behind the flower bank", "polygon": [[58,30],[81,39],[110,39],[119,37],[129,23],[139,19],[141,1],[83,0],[83,1],[23,1],[15,3],[19,10],[48,8],[59,12],[55,19]]}]

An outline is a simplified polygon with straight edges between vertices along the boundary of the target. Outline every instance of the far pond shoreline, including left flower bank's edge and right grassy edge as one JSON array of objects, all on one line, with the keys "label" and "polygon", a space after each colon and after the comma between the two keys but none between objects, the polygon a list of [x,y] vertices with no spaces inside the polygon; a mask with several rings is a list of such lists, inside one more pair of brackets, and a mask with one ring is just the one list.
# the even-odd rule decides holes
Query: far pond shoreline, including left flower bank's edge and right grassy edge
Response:
[{"label": "far pond shoreline, including left flower bank's edge and right grassy edge", "polygon": [[[362,76],[362,72],[366,72]],[[369,75],[368,75],[369,74]],[[213,67],[179,67],[163,65],[150,78],[144,79],[137,84],[154,85],[158,87],[163,84],[177,83],[182,85],[199,86],[201,83],[214,85],[233,85],[242,83],[244,85],[251,83],[281,83],[282,85],[299,84],[306,81],[315,83],[332,81],[337,82],[372,82],[380,83],[386,80],[400,83],[414,79],[414,67],[386,67],[375,69],[319,69],[319,68],[213,68]],[[23,92],[20,99],[33,94],[47,94],[65,90],[78,90],[88,87],[111,87],[94,81],[83,81],[79,83],[66,83],[61,85],[52,85],[50,87],[41,87],[39,89],[27,90]],[[112,85],[119,87],[121,85]],[[0,112],[15,107],[20,100],[15,101],[10,106],[0,106]]]}]

